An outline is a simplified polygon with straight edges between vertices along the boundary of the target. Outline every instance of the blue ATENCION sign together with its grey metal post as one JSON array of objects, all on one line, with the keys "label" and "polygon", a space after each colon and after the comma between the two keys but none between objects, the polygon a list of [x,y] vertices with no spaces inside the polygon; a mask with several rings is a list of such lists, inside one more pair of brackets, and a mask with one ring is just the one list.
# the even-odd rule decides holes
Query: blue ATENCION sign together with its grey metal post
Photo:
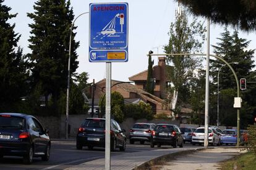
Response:
[{"label": "blue ATENCION sign together with its grey metal post", "polygon": [[89,25],[89,61],[106,62],[105,169],[110,170],[111,62],[128,61],[128,4],[90,4]]}]

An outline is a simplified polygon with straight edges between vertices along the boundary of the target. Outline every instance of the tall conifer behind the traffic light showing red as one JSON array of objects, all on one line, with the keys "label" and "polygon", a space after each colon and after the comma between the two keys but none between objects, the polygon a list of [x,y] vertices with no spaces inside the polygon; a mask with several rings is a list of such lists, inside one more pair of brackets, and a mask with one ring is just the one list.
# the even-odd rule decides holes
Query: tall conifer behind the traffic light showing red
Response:
[{"label": "tall conifer behind the traffic light showing red", "polygon": [[[220,56],[228,63],[233,63],[232,67],[236,72],[238,78],[246,78],[248,80],[256,76],[255,71],[252,71],[254,65],[254,50],[247,49],[250,41],[244,38],[239,38],[238,31],[235,30],[233,34],[228,31],[226,27],[224,32],[221,33],[221,38],[218,38],[220,42],[217,46],[213,46],[216,55]],[[234,64],[237,62],[237,64]],[[215,61],[211,64],[211,76],[213,78],[213,84],[217,83],[217,75],[220,67],[223,63]],[[232,71],[224,66],[220,70],[219,76],[220,86],[220,121],[222,124],[233,126],[236,123],[236,110],[233,108],[233,100],[236,97],[236,80]],[[215,89],[216,91],[216,85]],[[241,127],[246,127],[250,123],[250,118],[256,113],[255,101],[252,100],[253,95],[256,92],[255,85],[251,84],[247,91],[242,91],[242,102],[241,108]],[[217,92],[216,92],[217,94]],[[243,118],[242,118],[243,117]],[[252,123],[252,120],[251,120]]]}]

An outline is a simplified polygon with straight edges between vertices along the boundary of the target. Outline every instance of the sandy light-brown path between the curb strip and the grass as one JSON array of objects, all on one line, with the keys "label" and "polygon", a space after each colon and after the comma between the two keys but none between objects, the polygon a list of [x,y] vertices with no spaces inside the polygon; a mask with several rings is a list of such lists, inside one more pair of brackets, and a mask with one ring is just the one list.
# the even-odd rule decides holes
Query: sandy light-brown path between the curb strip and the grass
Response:
[{"label": "sandy light-brown path between the curb strip and the grass", "polygon": [[175,159],[169,160],[160,166],[151,166],[151,169],[169,170],[169,169],[220,169],[220,162],[233,158],[236,155],[246,152],[241,148],[211,148],[200,150],[193,154],[179,155]]}]

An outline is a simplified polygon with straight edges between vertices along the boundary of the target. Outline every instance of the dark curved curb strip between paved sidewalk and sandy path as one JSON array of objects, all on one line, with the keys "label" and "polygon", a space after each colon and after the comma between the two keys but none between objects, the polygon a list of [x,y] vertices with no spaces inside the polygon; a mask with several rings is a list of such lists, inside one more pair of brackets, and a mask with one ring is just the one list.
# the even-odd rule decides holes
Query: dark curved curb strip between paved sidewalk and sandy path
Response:
[{"label": "dark curved curb strip between paved sidewalk and sandy path", "polygon": [[153,158],[150,161],[147,161],[145,163],[140,164],[139,166],[135,167],[132,170],[144,170],[144,169],[150,169],[151,166],[155,165],[155,164],[161,164],[166,162],[166,160],[168,159],[172,159],[175,156],[181,155],[181,154],[188,154],[188,153],[194,153],[200,150],[205,150],[205,149],[212,149],[213,147],[210,148],[196,148],[196,149],[191,149],[191,150],[182,150],[182,151],[178,151],[178,152],[174,152],[174,153],[169,153],[166,155],[162,155],[159,156],[157,158]]}]

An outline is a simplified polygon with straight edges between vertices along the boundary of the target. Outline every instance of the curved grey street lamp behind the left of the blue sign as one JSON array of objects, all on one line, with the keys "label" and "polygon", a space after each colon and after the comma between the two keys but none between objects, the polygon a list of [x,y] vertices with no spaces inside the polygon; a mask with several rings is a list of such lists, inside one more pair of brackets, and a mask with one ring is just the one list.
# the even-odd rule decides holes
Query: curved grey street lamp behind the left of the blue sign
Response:
[{"label": "curved grey street lamp behind the left of the blue sign", "polygon": [[[83,12],[82,14],[78,15],[77,18],[79,18],[83,14],[88,14],[89,12]],[[69,63],[67,67],[67,103],[66,103],[66,139],[69,138],[69,81],[70,81],[70,57],[71,57],[71,40],[72,40],[72,31],[73,31],[73,26],[75,23],[75,20],[72,22],[71,28],[70,28],[70,36],[69,36]]]}]

